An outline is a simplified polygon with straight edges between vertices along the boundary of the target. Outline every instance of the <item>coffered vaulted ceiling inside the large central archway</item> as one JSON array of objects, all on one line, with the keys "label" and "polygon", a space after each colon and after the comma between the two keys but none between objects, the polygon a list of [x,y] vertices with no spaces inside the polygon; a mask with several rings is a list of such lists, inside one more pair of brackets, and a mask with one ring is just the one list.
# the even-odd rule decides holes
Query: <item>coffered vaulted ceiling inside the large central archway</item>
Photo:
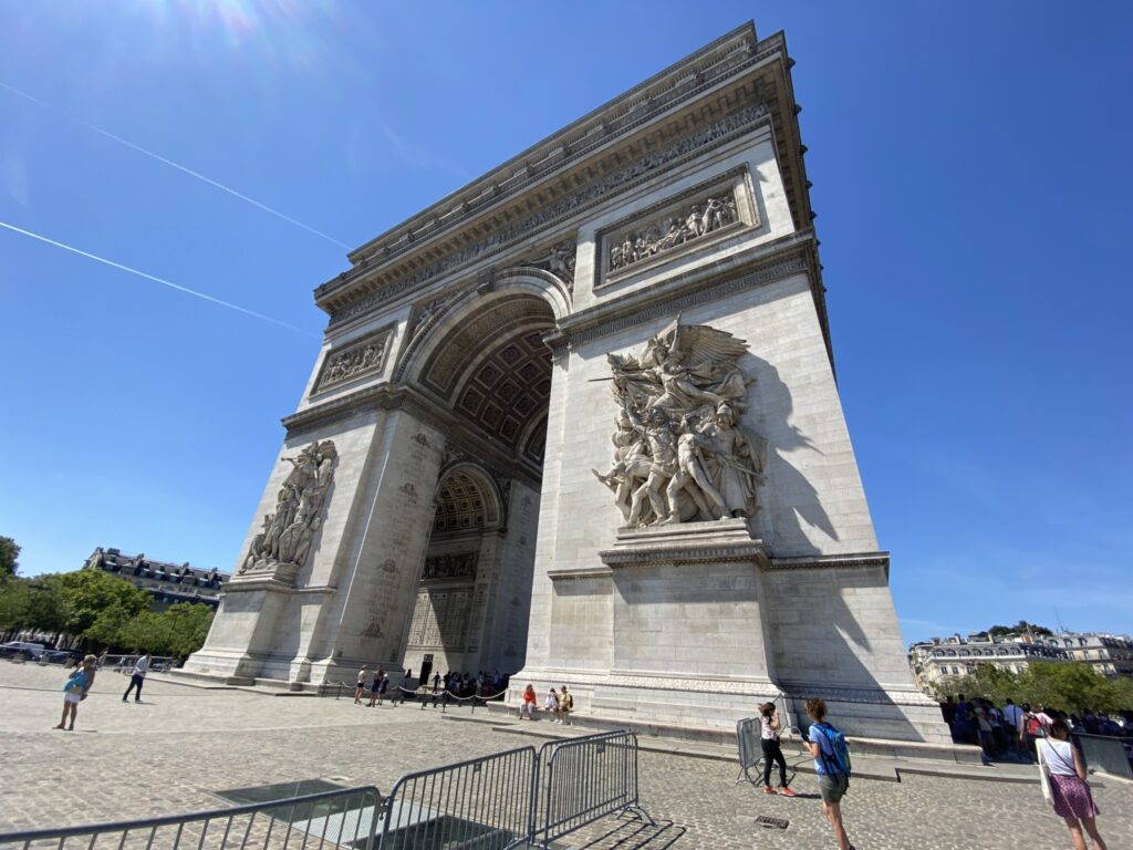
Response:
[{"label": "coffered vaulted ceiling inside the large central archway", "polygon": [[[423,381],[495,442],[542,466],[554,328],[546,303],[517,297],[469,316],[437,347]],[[540,426],[542,423],[542,426]]]}]

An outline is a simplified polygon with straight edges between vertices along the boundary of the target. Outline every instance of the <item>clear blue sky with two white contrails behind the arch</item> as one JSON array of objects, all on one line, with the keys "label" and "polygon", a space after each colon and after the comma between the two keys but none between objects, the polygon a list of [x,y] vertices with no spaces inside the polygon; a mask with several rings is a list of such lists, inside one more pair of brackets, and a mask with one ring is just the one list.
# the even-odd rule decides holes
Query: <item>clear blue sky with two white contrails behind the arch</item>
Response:
[{"label": "clear blue sky with two white contrails behind the arch", "polygon": [[0,5],[0,534],[23,571],[96,545],[231,569],[343,246],[749,18],[798,60],[905,638],[1056,606],[1133,630],[1122,3]]}]

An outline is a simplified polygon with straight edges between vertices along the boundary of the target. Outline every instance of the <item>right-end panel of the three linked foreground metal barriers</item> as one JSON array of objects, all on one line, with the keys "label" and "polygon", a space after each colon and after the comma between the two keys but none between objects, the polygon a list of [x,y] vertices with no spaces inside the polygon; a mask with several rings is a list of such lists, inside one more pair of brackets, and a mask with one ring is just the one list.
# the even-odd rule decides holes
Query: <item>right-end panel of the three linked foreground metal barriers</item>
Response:
[{"label": "right-end panel of the three linked foreground metal barriers", "polygon": [[627,731],[543,745],[544,771],[536,792],[540,817],[531,819],[534,843],[547,848],[606,815],[627,811],[655,825],[638,798],[637,756],[637,736]]}]

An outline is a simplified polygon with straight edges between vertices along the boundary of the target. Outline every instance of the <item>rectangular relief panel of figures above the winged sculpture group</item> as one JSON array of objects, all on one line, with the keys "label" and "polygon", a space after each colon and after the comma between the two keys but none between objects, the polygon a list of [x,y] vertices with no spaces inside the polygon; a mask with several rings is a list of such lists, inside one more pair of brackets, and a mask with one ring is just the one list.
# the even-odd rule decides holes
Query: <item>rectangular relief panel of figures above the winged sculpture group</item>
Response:
[{"label": "rectangular relief panel of figures above the winged sculpture group", "polygon": [[739,221],[735,190],[717,190],[700,199],[670,207],[661,215],[608,238],[607,267],[611,272],[625,269],[719,232]]}]

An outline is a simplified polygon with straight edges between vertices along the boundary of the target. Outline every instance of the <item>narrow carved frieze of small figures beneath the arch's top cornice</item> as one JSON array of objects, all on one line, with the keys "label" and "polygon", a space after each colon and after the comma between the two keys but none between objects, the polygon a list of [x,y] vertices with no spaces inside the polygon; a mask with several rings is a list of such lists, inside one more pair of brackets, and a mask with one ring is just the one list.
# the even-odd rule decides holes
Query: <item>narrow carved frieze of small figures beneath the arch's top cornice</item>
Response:
[{"label": "narrow carved frieze of small figures beneath the arch's top cornice", "polygon": [[569,215],[574,215],[589,209],[607,196],[621,193],[654,179],[658,169],[679,164],[699,155],[709,145],[719,145],[733,137],[748,131],[756,122],[769,114],[766,103],[748,103],[735,112],[714,121],[706,127],[693,130],[666,147],[646,154],[617,171],[606,173],[600,180],[577,192],[562,196],[529,213],[510,227],[492,230],[492,235],[479,241],[465,246],[441,260],[429,263],[424,269],[384,284],[377,292],[361,298],[331,315],[330,326],[341,324],[374,307],[393,300],[410,289],[437,278],[455,267],[472,261],[499,254],[504,248],[520,240],[530,238],[536,229],[550,228]]}]

